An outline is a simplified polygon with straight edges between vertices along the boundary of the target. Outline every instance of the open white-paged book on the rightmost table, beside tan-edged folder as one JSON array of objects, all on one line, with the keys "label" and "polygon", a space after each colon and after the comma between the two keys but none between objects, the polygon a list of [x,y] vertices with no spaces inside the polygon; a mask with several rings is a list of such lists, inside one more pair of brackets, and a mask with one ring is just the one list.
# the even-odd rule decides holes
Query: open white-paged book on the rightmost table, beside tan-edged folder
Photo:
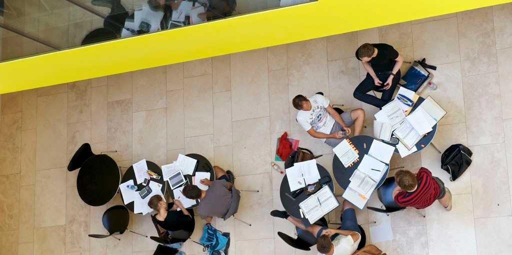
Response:
[{"label": "open white-paged book on the rightmost table, beside tan-edged folder", "polygon": [[429,114],[415,110],[393,133],[408,150],[411,150],[424,134],[432,131],[432,122]]}]

